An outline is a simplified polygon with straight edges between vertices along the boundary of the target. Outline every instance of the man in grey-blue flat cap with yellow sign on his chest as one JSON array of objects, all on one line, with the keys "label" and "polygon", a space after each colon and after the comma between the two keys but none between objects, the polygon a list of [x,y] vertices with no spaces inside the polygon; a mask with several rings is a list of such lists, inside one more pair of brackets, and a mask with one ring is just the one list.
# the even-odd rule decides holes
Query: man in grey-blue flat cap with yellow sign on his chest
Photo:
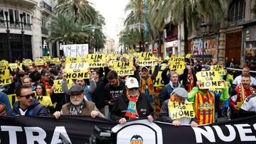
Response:
[{"label": "man in grey-blue flat cap with yellow sign on his chest", "polygon": [[164,101],[159,113],[159,120],[172,123],[174,126],[190,124],[192,127],[198,126],[196,115],[193,111],[193,103],[187,101],[188,92],[182,87],[174,89],[174,94],[170,99]]}]

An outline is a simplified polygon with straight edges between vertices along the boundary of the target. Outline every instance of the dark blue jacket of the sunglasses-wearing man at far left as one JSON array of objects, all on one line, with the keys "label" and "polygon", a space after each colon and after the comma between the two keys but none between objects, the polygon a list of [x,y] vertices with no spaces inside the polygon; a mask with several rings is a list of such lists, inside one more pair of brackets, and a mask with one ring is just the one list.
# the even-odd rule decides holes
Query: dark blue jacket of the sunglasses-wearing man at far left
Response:
[{"label": "dark blue jacket of the sunglasses-wearing man at far left", "polygon": [[[13,109],[9,110],[7,116],[21,116],[19,102],[14,103]],[[33,104],[28,108],[25,116],[48,116],[46,106],[41,105],[36,98],[33,99]]]}]

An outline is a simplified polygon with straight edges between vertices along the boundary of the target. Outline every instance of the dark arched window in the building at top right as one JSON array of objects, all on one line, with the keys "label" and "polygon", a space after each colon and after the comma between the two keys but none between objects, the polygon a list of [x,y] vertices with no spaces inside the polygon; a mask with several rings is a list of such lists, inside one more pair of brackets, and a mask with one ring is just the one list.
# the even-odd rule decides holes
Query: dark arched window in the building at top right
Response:
[{"label": "dark arched window in the building at top right", "polygon": [[243,21],[245,18],[245,0],[233,0],[228,9],[228,23]]}]

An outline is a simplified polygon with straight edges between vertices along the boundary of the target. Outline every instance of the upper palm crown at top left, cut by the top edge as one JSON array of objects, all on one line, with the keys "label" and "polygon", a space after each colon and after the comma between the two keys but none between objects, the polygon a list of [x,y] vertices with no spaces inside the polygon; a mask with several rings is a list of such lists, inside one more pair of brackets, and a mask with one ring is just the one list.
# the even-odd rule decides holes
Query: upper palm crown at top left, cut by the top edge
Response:
[{"label": "upper palm crown at top left, cut by the top edge", "polygon": [[72,13],[75,22],[94,22],[97,11],[87,0],[58,0],[55,6],[56,13]]}]

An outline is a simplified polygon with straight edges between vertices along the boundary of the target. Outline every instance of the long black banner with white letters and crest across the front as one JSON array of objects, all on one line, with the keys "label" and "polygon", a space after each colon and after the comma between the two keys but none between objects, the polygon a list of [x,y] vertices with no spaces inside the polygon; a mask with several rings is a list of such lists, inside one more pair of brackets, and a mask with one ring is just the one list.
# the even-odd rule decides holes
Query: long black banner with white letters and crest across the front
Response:
[{"label": "long black banner with white letters and crest across the front", "polygon": [[137,120],[119,125],[90,116],[0,116],[0,143],[88,143],[95,126],[112,128],[117,143],[256,143],[256,116],[208,126],[175,127],[168,123]]}]

